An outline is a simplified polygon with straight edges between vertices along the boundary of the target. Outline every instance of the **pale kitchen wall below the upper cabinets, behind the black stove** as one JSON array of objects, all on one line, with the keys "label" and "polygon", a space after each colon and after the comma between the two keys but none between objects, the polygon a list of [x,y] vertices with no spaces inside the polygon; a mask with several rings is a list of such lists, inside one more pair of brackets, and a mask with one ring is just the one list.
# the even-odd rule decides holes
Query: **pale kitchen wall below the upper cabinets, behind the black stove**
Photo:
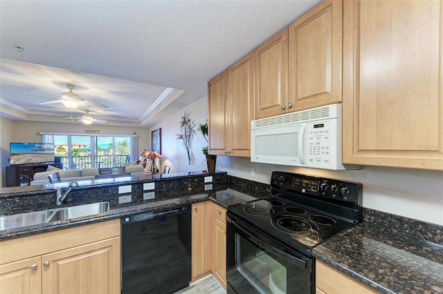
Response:
[{"label": "pale kitchen wall below the upper cabinets, behind the black stove", "polygon": [[[251,177],[255,168],[255,177]],[[273,170],[343,179],[363,184],[363,206],[443,225],[443,172],[364,166],[362,170],[320,170],[257,164],[248,158],[219,156],[217,169],[269,184]]]}]

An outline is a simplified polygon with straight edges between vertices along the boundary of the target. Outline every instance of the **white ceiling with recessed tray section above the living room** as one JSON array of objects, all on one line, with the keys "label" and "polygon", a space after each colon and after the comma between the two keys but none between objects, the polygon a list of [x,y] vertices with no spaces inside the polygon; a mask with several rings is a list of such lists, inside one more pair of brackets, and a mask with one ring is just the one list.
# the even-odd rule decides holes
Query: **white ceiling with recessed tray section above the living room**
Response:
[{"label": "white ceiling with recessed tray section above the living room", "polygon": [[40,103],[74,84],[109,106],[91,108],[93,117],[150,126],[204,97],[209,79],[319,2],[1,0],[0,115],[68,122],[84,113]]}]

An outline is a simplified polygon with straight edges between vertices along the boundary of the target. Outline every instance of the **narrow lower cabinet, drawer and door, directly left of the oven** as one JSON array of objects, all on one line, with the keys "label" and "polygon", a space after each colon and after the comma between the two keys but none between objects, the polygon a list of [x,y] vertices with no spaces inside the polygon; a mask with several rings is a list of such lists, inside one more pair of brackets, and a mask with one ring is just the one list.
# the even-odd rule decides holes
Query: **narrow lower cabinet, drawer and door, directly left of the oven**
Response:
[{"label": "narrow lower cabinet, drawer and door, directly left of the oven", "polygon": [[207,202],[206,266],[226,289],[226,208]]}]

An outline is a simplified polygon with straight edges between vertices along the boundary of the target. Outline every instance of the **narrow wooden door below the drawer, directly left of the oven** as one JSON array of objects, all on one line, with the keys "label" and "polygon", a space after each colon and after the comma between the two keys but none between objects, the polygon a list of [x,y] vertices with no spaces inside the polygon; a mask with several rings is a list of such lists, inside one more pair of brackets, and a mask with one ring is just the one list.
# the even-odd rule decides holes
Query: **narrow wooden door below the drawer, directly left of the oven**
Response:
[{"label": "narrow wooden door below the drawer, directly left of the oven", "polygon": [[226,289],[226,221],[214,219],[215,263],[213,274]]}]

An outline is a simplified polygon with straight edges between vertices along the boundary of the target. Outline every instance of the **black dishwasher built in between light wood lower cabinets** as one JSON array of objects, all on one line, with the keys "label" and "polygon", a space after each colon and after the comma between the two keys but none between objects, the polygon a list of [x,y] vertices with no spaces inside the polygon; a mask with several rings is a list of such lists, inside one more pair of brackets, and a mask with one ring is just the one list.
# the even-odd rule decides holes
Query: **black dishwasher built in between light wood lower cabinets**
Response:
[{"label": "black dishwasher built in between light wood lower cabinets", "polygon": [[191,280],[191,210],[122,218],[122,293],[174,293]]}]

